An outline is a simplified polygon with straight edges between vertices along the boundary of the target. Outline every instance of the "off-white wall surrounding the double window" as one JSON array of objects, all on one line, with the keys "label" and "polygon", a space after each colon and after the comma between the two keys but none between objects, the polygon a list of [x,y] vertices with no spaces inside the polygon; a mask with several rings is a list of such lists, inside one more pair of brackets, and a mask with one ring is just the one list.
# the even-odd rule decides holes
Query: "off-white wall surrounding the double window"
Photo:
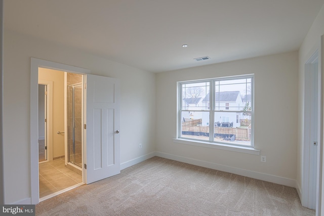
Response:
[{"label": "off-white wall surrounding the double window", "polygon": [[[251,73],[255,74],[255,148],[267,157],[266,163],[258,155],[173,142],[177,129],[177,81]],[[298,52],[158,73],[156,85],[158,152],[261,172],[295,183]]]}]

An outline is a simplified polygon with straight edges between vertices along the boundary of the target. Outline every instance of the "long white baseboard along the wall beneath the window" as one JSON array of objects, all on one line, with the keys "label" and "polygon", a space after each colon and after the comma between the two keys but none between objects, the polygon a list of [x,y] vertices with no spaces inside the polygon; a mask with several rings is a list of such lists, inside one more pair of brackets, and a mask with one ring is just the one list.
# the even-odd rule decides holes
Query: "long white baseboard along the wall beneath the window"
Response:
[{"label": "long white baseboard along the wall beneath the window", "polygon": [[218,163],[212,163],[212,162],[207,162],[207,161],[203,161],[203,160],[197,160],[197,159],[182,157],[182,156],[178,156],[178,155],[167,154],[167,153],[163,153],[163,152],[156,152],[155,155],[159,156],[159,157],[171,159],[171,160],[176,160],[176,161],[180,161],[180,162],[184,162],[184,163],[197,165],[197,166],[203,166],[206,168],[230,172],[232,174],[246,176],[246,177],[250,177],[253,179],[258,179],[258,180],[262,180],[262,181],[266,181],[266,182],[271,182],[271,183],[280,184],[280,185],[286,185],[286,186],[293,187],[293,188],[296,187],[296,180],[294,180],[294,179],[288,179],[288,178],[284,178],[284,177],[264,174],[262,172],[256,172],[256,171],[236,168],[236,167],[232,167],[232,166],[225,166],[225,165],[218,164]]}]

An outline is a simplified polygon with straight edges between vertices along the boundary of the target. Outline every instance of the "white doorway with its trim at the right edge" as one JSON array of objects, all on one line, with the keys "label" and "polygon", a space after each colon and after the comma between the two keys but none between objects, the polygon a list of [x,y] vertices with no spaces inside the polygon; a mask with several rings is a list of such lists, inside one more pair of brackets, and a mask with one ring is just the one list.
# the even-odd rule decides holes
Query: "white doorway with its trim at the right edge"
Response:
[{"label": "white doorway with its trim at the right edge", "polygon": [[305,64],[305,102],[304,102],[304,163],[303,198],[305,207],[316,209],[318,136],[319,136],[319,94],[318,94],[318,51]]}]

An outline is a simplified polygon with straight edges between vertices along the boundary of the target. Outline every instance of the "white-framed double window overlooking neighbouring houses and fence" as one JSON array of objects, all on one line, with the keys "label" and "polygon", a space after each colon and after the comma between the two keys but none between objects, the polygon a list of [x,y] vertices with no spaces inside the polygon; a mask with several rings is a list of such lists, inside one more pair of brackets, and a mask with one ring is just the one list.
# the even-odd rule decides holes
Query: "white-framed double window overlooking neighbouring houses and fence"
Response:
[{"label": "white-framed double window overlooking neighbouring houses and fence", "polygon": [[182,81],[178,86],[178,138],[253,146],[253,74]]}]

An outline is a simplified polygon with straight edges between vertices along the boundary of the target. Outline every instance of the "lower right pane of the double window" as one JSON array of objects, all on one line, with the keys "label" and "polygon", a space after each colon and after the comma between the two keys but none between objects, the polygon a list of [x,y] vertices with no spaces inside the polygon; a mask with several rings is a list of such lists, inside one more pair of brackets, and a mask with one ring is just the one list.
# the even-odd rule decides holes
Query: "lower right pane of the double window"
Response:
[{"label": "lower right pane of the double window", "polygon": [[215,112],[214,141],[251,146],[251,112]]}]

